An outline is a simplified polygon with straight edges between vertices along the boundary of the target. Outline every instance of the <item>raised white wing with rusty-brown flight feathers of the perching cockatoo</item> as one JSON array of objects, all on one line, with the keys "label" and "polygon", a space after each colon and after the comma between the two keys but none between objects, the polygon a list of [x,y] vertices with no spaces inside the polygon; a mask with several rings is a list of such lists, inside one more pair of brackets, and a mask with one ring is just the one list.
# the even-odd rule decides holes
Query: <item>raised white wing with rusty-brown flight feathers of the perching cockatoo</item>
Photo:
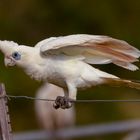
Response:
[{"label": "raised white wing with rusty-brown flight feathers of the perching cockatoo", "polygon": [[129,70],[137,70],[132,62],[138,61],[140,51],[127,42],[107,36],[69,35],[39,42],[43,54],[82,56],[89,64],[114,63]]}]

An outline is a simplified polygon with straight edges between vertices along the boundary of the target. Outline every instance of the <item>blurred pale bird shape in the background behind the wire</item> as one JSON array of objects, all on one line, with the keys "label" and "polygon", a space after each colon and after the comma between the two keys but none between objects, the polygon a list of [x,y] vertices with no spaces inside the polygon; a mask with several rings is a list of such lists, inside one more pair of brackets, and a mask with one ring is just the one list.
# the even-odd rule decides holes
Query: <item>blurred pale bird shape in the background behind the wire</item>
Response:
[{"label": "blurred pale bird shape in the background behind the wire", "polygon": [[[36,93],[36,98],[39,99],[56,99],[57,96],[64,96],[63,89],[48,83],[41,86]],[[35,100],[35,111],[40,126],[48,131],[72,127],[75,123],[74,107],[56,110],[52,102]]]}]

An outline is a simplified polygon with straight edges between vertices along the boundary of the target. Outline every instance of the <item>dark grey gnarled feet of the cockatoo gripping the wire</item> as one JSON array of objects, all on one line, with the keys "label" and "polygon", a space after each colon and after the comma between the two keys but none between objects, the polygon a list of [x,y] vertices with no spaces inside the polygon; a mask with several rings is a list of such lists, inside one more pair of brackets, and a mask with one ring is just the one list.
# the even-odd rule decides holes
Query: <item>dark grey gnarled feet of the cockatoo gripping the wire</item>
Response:
[{"label": "dark grey gnarled feet of the cockatoo gripping the wire", "polygon": [[67,97],[57,96],[55,103],[53,104],[55,109],[62,108],[62,109],[68,109],[72,107],[72,103],[70,102],[70,99]]}]

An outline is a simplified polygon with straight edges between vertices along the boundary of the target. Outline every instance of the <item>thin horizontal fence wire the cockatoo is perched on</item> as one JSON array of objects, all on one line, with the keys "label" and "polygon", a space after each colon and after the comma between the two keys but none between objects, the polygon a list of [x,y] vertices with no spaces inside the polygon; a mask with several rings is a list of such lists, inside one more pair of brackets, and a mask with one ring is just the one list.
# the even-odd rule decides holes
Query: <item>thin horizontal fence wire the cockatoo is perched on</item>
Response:
[{"label": "thin horizontal fence wire the cockatoo is perched on", "polygon": [[[46,98],[36,98],[36,97],[32,97],[32,96],[14,96],[14,95],[6,95],[4,97],[1,98],[8,98],[9,100],[11,100],[11,98],[14,99],[27,99],[27,100],[40,100],[40,101],[55,101],[55,99],[46,99]],[[72,100],[70,99],[69,102],[73,102],[73,103],[111,103],[111,102],[130,102],[130,103],[140,103],[140,99],[130,99],[130,100],[97,100],[97,99],[93,99],[93,100],[85,100],[85,99],[78,99],[78,100]]]}]

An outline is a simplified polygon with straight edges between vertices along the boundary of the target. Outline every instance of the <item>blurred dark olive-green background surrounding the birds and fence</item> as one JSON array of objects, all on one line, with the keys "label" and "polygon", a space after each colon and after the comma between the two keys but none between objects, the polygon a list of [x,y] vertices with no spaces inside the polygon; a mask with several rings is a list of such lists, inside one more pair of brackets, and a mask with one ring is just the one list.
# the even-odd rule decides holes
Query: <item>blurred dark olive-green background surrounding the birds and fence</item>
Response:
[{"label": "blurred dark olive-green background surrounding the birds and fence", "polygon": [[[34,46],[38,41],[69,34],[99,34],[123,39],[140,49],[140,1],[138,0],[1,0],[0,39]],[[140,64],[137,63],[138,66]],[[140,79],[114,65],[100,66],[126,79]],[[34,96],[41,83],[31,80],[17,68],[5,68],[0,55],[0,80],[8,94]],[[140,99],[140,91],[100,86],[79,91],[78,99]],[[140,103],[75,104],[76,125],[99,124],[140,118]],[[10,100],[14,132],[39,129],[34,102]],[[30,123],[29,123],[30,122]],[[96,140],[118,140],[125,133],[96,137]],[[80,138],[79,138],[80,139]],[[84,139],[84,138],[83,138]],[[89,139],[93,139],[92,137]]]}]

